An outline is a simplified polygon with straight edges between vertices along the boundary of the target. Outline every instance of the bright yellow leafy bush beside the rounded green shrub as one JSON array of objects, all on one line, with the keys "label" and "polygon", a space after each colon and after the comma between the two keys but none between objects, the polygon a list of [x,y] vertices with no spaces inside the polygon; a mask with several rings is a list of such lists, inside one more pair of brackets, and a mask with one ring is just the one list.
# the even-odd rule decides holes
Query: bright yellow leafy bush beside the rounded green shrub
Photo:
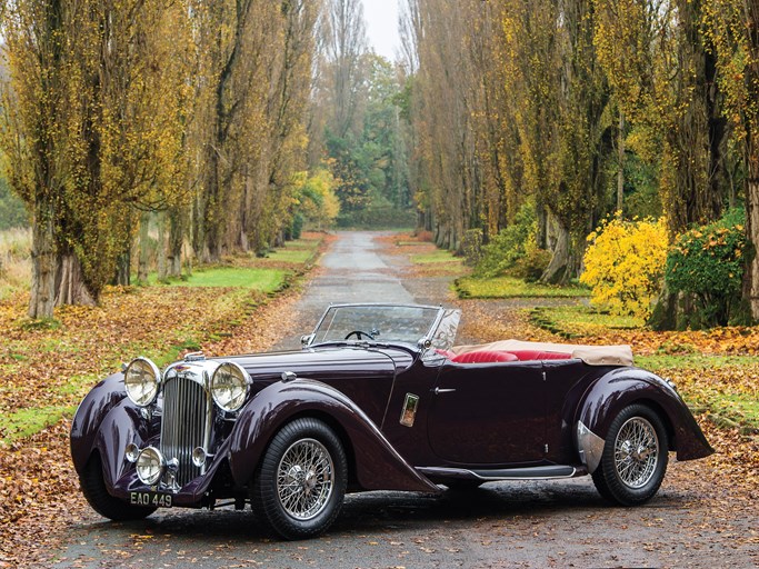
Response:
[{"label": "bright yellow leafy bush beside the rounded green shrub", "polygon": [[667,261],[666,220],[626,221],[617,216],[588,241],[580,282],[592,289],[591,305],[613,315],[648,317]]}]

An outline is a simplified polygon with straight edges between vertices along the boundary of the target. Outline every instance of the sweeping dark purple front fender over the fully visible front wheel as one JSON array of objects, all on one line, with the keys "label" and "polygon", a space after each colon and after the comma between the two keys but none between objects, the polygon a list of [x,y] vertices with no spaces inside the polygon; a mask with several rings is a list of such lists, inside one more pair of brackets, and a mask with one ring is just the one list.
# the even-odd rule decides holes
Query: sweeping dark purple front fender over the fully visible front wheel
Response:
[{"label": "sweeping dark purple front fender over the fully visible front wheel", "polygon": [[356,476],[367,490],[440,492],[392,448],[369,417],[344,393],[320,381],[279,381],[261,390],[241,411],[230,435],[230,468],[242,486],[253,476],[274,433],[294,416],[328,416],[348,438]]}]

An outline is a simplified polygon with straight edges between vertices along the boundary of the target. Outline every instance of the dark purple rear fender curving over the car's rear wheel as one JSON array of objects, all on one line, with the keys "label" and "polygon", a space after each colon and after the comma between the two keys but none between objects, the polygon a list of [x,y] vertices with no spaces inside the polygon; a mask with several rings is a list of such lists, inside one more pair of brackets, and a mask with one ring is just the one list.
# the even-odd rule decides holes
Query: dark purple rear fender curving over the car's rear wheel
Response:
[{"label": "dark purple rear fender curving over the car's rear wheel", "polygon": [[[671,427],[670,450],[677,450],[678,460],[703,458],[713,452],[678,392],[659,376],[638,368],[615,369],[590,386],[576,417],[578,438],[589,440],[585,426],[592,435],[606,439],[615,417],[633,403],[653,403],[652,407],[663,412],[662,419]],[[582,451],[580,440],[578,446]]]}]

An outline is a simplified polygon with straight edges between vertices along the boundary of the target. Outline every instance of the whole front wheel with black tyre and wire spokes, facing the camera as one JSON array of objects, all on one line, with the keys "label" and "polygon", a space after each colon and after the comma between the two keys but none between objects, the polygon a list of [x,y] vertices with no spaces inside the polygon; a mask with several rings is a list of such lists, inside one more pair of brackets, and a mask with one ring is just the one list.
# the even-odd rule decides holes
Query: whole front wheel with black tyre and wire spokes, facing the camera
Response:
[{"label": "whole front wheel with black tyre and wire spokes, facing the camera", "polygon": [[273,437],[251,486],[260,522],[286,539],[324,532],[342,508],[348,460],[324,422],[301,418]]}]

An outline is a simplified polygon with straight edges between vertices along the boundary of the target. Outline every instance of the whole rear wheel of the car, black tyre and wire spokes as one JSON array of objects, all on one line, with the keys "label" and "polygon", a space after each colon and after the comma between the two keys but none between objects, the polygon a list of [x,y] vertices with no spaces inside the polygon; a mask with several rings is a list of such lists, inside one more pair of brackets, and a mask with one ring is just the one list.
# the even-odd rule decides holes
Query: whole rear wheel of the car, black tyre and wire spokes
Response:
[{"label": "whole rear wheel of the car, black tyre and wire spokes", "polygon": [[601,462],[593,472],[599,493],[622,506],[638,506],[659,490],[669,446],[661,418],[649,407],[631,405],[609,428]]}]

